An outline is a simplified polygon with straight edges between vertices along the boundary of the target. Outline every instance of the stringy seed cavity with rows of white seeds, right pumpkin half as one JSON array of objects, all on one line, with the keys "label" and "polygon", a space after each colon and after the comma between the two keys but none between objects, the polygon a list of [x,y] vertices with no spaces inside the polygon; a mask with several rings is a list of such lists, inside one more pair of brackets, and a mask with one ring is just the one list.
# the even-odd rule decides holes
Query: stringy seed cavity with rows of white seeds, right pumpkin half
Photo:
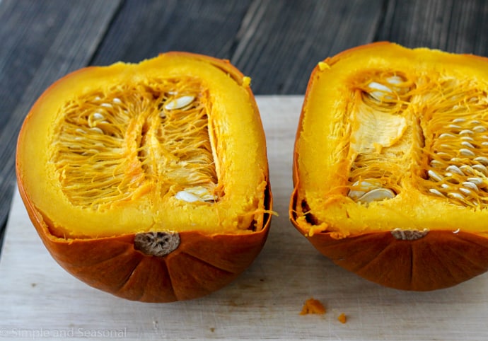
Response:
[{"label": "stringy seed cavity with rows of white seeds, right pumpkin half", "polygon": [[464,207],[488,202],[488,96],[484,86],[442,74],[364,70],[352,77],[347,195],[393,200],[413,183]]}]

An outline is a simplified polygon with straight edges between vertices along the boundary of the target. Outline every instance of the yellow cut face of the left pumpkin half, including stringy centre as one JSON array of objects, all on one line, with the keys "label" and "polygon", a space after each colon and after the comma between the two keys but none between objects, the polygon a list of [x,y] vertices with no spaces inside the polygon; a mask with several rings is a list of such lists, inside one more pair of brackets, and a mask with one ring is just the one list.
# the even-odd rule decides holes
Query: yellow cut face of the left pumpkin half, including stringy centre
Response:
[{"label": "yellow cut face of the left pumpkin half, including stringy centre", "polygon": [[78,71],[26,118],[20,180],[60,237],[262,229],[267,158],[252,101],[248,83],[182,55]]}]

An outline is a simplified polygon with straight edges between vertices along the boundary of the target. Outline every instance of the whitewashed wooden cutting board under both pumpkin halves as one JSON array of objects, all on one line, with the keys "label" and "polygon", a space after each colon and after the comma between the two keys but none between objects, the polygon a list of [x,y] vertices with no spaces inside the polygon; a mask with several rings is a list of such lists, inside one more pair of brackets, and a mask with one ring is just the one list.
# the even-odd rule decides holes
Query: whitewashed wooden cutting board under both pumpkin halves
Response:
[{"label": "whitewashed wooden cutting board under both pumpkin halves", "polygon": [[[488,340],[486,274],[432,292],[388,289],[337,267],[294,229],[288,204],[302,101],[257,96],[279,216],[252,266],[202,299],[143,304],[79,282],[47,253],[16,193],[0,257],[0,339]],[[325,315],[299,315],[312,296]]]}]

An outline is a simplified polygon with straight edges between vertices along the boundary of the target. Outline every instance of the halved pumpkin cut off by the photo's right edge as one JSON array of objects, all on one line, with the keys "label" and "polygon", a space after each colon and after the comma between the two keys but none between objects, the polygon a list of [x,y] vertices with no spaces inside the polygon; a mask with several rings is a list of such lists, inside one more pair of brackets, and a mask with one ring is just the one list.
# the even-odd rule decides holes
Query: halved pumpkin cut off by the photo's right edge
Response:
[{"label": "halved pumpkin cut off by the photo's right edge", "polygon": [[387,287],[488,269],[488,59],[378,42],[318,63],[290,217],[337,265]]}]

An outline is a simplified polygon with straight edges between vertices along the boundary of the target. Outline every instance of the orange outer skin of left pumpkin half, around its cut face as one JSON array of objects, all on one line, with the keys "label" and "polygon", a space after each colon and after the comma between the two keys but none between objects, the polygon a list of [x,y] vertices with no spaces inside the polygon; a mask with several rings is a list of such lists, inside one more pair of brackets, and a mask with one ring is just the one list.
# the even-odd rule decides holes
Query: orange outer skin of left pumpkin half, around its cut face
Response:
[{"label": "orange outer skin of left pumpkin half, around its cut face", "polygon": [[[187,52],[168,52],[161,57],[188,58],[210,64],[220,69],[243,86],[245,77],[228,61]],[[64,79],[76,78],[79,74],[95,68],[86,68],[67,75]],[[51,88],[62,86],[64,79]],[[249,84],[243,86],[249,96],[249,105],[255,113],[257,127],[261,125],[257,105]],[[50,89],[51,89],[50,88]],[[31,112],[37,110],[47,93],[37,100]],[[26,122],[31,117],[28,115]],[[164,303],[197,299],[232,282],[246,270],[262,250],[271,223],[272,192],[269,186],[267,164],[265,165],[264,208],[260,229],[248,228],[246,233],[208,233],[205,231],[177,231],[179,244],[167,255],[157,256],[138,250],[135,242],[138,233],[126,233],[100,238],[63,238],[52,231],[53,221],[37,209],[25,185],[21,163],[21,144],[27,134],[25,124],[21,129],[16,161],[16,175],[21,198],[30,220],[33,222],[42,243],[52,258],[64,270],[82,282],[115,296],[133,301]],[[264,137],[264,135],[263,135]],[[262,146],[257,147],[262,148]],[[166,230],[165,230],[166,231]],[[157,231],[156,231],[157,232]],[[139,233],[141,234],[141,233]],[[142,233],[144,234],[144,233]]]}]

